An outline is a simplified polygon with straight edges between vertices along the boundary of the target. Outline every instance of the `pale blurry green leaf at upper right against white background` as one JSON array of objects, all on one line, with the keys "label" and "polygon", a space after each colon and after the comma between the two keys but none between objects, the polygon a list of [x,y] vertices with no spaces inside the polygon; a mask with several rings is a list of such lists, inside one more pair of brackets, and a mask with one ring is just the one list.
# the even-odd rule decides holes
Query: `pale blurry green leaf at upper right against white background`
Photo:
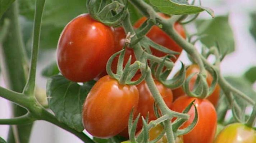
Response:
[{"label": "pale blurry green leaf at upper right against white background", "polygon": [[197,20],[198,33],[206,35],[201,42],[208,48],[219,44],[220,53],[231,53],[235,50],[233,31],[228,23],[228,16],[218,16],[211,20]]}]

